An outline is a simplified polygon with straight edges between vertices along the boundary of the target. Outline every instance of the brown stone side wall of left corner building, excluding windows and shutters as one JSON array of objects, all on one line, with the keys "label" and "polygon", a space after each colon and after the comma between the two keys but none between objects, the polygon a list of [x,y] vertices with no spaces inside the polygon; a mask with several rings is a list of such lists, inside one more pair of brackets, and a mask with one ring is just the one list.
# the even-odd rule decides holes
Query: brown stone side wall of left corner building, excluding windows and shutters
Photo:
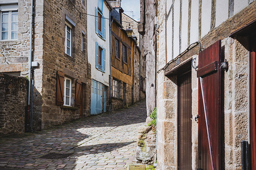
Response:
[{"label": "brown stone side wall of left corner building, excluding windows and shutters", "polygon": [[[52,12],[54,11],[54,12]],[[43,92],[42,92],[42,129],[51,125],[75,120],[80,117],[75,108],[75,82],[81,80],[86,86],[84,101],[90,103],[90,71],[87,56],[87,16],[86,7],[80,1],[56,0],[44,1],[44,36],[43,36]],[[68,16],[75,25],[72,26],[72,54],[65,53],[65,22]],[[82,31],[85,32],[85,48],[81,50]],[[71,107],[55,105],[56,74],[61,71],[72,79]],[[89,104],[83,109],[83,115],[89,114]]]}]

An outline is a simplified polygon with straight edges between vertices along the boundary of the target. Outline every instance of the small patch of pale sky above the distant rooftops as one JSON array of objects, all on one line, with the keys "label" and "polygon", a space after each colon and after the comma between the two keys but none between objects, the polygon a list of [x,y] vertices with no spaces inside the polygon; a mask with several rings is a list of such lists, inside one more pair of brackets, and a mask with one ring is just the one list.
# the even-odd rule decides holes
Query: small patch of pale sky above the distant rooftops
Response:
[{"label": "small patch of pale sky above the distant rooftops", "polygon": [[[121,7],[125,11],[123,13],[125,13],[126,15],[129,15],[131,18],[137,21],[139,21],[140,19],[140,15],[139,15],[140,2],[139,1],[140,0],[122,0],[121,1]],[[128,11],[133,11],[133,13]]]}]

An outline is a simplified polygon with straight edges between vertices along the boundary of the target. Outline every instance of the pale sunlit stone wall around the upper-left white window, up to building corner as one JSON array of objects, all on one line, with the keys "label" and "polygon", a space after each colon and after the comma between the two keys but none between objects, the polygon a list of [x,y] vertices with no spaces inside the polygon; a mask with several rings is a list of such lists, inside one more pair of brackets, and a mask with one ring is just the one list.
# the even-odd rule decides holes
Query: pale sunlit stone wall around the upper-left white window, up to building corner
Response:
[{"label": "pale sunlit stone wall around the upper-left white window, up to building corner", "polygon": [[[43,2],[35,1],[34,9],[34,50],[32,61],[39,63],[34,69],[34,126],[40,130],[42,105],[42,63],[43,63]],[[31,0],[18,1],[18,40],[0,41],[0,72],[28,75],[28,57],[30,56],[30,10]]]}]

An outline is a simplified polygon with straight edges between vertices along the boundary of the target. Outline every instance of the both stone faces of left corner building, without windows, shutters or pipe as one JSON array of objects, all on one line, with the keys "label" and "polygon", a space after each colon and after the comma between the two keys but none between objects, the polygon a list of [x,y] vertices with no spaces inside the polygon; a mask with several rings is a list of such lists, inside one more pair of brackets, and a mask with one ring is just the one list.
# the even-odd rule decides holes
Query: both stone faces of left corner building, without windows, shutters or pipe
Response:
[{"label": "both stone faces of left corner building, without windows, shutters or pipe", "polygon": [[[34,1],[34,33],[32,61],[39,63],[32,69],[35,81],[33,95],[33,129],[89,116],[90,65],[87,56],[86,6],[81,1]],[[0,5],[2,5],[0,3]],[[18,1],[18,40],[0,41],[0,71],[28,75],[30,45],[31,1]],[[81,17],[81,18],[80,18]],[[71,20],[71,21],[70,21]],[[65,54],[65,23],[72,22],[72,54]],[[85,33],[82,41],[82,32]],[[82,42],[84,48],[82,47]],[[71,107],[57,106],[57,71],[72,80]],[[75,107],[75,83],[82,82],[82,109]],[[82,113],[80,113],[82,111]]]}]

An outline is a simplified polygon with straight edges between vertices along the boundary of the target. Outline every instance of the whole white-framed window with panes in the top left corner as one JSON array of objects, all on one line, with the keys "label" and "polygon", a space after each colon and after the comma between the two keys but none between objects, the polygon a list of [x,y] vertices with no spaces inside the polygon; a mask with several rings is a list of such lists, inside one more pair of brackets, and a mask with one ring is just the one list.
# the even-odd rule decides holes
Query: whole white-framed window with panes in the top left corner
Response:
[{"label": "whole white-framed window with panes in the top left corner", "polygon": [[[18,6],[0,6],[1,40],[18,39]],[[15,9],[15,10],[14,10]]]}]

